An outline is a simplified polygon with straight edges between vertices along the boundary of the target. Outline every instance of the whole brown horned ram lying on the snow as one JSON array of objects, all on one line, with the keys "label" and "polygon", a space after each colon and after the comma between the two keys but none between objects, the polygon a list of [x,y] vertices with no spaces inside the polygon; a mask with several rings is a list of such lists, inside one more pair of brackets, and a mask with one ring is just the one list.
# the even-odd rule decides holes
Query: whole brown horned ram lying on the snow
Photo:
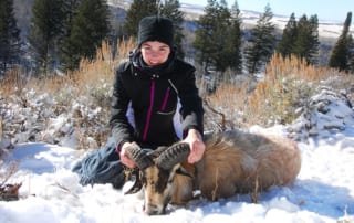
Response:
[{"label": "whole brown horned ram lying on the snow", "polygon": [[205,135],[205,155],[195,164],[186,161],[189,146],[185,142],[152,152],[132,148],[128,156],[137,163],[140,176],[126,193],[144,185],[145,212],[163,214],[169,202],[181,204],[192,199],[194,190],[215,201],[287,185],[301,168],[296,144],[279,136],[230,130]]}]

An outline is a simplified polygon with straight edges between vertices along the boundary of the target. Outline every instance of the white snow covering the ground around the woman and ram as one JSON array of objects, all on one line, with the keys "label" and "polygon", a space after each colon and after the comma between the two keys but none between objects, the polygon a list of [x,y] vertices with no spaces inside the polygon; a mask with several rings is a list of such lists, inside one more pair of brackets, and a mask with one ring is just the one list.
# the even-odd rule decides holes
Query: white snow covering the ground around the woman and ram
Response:
[{"label": "white snow covering the ground around the woman and ram", "polygon": [[[42,104],[55,104],[48,95],[39,96],[33,107],[20,110],[14,105],[13,120],[25,119]],[[132,182],[122,190],[111,184],[83,187],[71,171],[76,161],[91,150],[74,149],[70,118],[64,115],[50,117],[48,135],[66,132],[56,138],[61,146],[48,142],[27,142],[30,132],[17,134],[13,149],[6,150],[4,163],[18,164],[18,171],[7,183],[22,183],[18,201],[0,201],[1,223],[22,222],[354,222],[354,110],[348,100],[329,88],[310,98],[310,107],[301,108],[302,115],[289,126],[271,128],[253,126],[250,131],[267,131],[278,135],[298,136],[302,156],[302,168],[296,180],[289,187],[273,187],[259,194],[252,203],[249,194],[236,194],[217,202],[199,198],[187,205],[168,205],[167,213],[147,216],[143,213],[142,194],[124,195]],[[9,108],[8,107],[8,108]],[[73,109],[86,110],[96,116],[100,109],[88,110],[82,106]],[[15,108],[15,109],[14,109]],[[40,109],[40,108],[37,108]],[[41,108],[48,117],[48,110]],[[31,117],[27,121],[38,121]],[[8,123],[9,124],[9,123]],[[32,123],[32,126],[35,126]],[[31,126],[28,123],[27,126]],[[33,131],[29,129],[29,131]],[[291,135],[293,134],[293,135]],[[63,135],[63,134],[62,134]],[[45,137],[43,137],[45,138]],[[0,163],[1,164],[1,163]],[[6,168],[0,168],[0,177]],[[2,180],[0,181],[0,183]]]}]

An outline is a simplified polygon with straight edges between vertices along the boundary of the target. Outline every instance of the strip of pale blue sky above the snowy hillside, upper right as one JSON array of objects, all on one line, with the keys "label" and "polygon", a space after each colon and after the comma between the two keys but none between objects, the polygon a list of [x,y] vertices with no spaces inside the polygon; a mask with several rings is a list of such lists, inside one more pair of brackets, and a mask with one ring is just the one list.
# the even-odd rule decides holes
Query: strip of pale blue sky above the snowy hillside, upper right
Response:
[{"label": "strip of pale blue sky above the snowy hillside, upper right", "polygon": [[[188,0],[180,0],[181,3],[190,3]],[[194,4],[207,6],[207,0],[194,0]],[[235,0],[227,0],[231,7]],[[320,20],[344,22],[348,11],[354,11],[353,0],[238,0],[241,10],[253,10],[263,12],[267,3],[272,12],[279,15],[290,17],[292,12],[296,18],[306,14],[317,14]],[[353,19],[352,19],[353,23]]]}]

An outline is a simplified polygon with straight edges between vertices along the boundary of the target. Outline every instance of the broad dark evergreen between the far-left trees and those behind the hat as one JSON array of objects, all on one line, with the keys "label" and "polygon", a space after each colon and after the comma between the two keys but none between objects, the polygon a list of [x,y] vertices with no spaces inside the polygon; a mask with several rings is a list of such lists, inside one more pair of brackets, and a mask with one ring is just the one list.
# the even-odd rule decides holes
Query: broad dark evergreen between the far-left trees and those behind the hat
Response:
[{"label": "broad dark evergreen between the far-left trees and those behind the hat", "polygon": [[73,19],[67,49],[71,54],[66,70],[77,68],[82,57],[94,59],[96,50],[110,32],[108,7],[105,0],[82,0]]}]

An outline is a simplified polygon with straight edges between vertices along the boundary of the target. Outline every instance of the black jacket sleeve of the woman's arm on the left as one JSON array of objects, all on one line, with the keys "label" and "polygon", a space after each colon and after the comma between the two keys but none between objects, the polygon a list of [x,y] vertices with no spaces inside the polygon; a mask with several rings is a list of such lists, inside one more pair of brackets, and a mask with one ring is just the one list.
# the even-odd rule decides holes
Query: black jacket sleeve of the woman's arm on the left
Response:
[{"label": "black jacket sleeve of the woman's arm on the left", "polygon": [[124,73],[124,66],[126,66],[126,64],[119,64],[115,71],[111,102],[110,126],[112,129],[112,136],[117,144],[117,148],[119,148],[125,141],[134,140],[134,129],[126,116],[131,98],[126,94],[123,85],[122,75]]}]

